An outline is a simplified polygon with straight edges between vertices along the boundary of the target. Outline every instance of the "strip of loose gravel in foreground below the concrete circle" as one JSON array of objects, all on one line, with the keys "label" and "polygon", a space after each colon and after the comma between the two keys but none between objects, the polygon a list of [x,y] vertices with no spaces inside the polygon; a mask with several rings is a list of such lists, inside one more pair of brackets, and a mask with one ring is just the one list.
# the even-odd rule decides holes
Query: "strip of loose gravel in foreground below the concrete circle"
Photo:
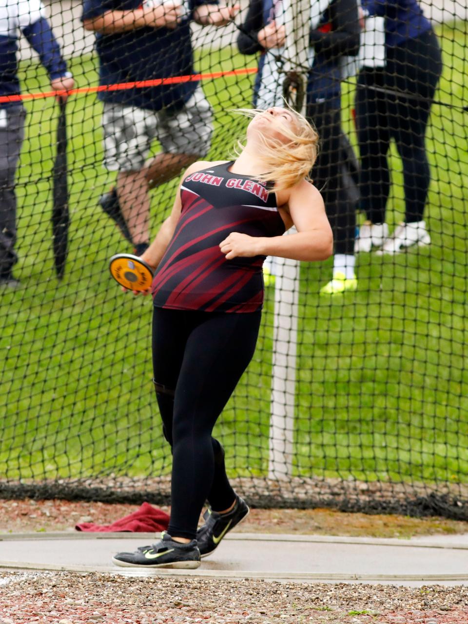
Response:
[{"label": "strip of loose gravel in foreground below the concrete circle", "polygon": [[466,624],[467,587],[0,572],[0,623]]}]

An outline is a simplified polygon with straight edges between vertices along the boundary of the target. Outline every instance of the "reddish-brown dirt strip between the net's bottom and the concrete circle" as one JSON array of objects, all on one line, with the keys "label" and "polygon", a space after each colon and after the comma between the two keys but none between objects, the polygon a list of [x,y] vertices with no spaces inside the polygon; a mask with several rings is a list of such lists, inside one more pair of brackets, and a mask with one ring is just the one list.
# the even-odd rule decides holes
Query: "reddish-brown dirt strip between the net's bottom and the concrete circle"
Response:
[{"label": "reddish-brown dirt strip between the net's bottom and the concrete circle", "polygon": [[[0,533],[74,531],[78,522],[111,524],[139,505],[0,499]],[[168,512],[168,507],[160,507]],[[349,514],[333,509],[251,509],[236,530],[248,533],[401,537],[468,533],[468,522],[439,517]],[[1,623],[0,623],[1,624]]]}]

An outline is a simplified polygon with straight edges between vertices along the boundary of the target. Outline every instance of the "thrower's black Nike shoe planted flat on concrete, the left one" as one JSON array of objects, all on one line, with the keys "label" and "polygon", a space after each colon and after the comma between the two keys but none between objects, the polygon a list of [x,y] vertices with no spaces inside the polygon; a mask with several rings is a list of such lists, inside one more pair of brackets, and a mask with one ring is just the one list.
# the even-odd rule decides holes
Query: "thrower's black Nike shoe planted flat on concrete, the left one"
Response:
[{"label": "thrower's black Nike shoe planted flat on concrete, the left one", "polygon": [[115,565],[122,568],[183,568],[193,570],[200,565],[200,550],[197,541],[188,544],[174,542],[167,533],[151,546],[138,548],[135,552],[119,552],[112,557]]}]

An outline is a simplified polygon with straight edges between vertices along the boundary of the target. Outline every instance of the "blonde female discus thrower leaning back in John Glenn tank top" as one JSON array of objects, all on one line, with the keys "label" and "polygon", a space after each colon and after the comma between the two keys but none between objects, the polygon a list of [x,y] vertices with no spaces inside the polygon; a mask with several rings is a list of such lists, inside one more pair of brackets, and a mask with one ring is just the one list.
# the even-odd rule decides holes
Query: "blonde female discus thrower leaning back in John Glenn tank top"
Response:
[{"label": "blonde female discus thrower leaning back in John Glenn tank top", "polygon": [[[172,506],[160,541],[115,555],[123,567],[197,568],[248,514],[212,430],[255,351],[261,266],[268,255],[314,261],[333,251],[323,200],[307,180],[316,131],[293,110],[242,112],[252,119],[238,158],[188,167],[141,256],[156,269],[154,385],[172,447]],[[282,236],[292,225],[297,233]]]}]

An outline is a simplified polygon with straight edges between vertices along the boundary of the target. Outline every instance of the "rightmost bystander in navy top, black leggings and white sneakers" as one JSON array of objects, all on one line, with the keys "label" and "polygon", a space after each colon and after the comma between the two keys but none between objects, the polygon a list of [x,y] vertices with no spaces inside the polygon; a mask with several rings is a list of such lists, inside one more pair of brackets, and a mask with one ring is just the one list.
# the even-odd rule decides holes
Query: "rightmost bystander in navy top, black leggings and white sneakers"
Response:
[{"label": "rightmost bystander in navy top, black leggings and white sneakers", "polygon": [[[363,67],[356,90],[356,126],[361,154],[360,207],[367,220],[355,250],[399,253],[428,245],[424,207],[431,182],[425,136],[442,73],[442,56],[431,23],[416,0],[363,0],[366,16],[384,17],[386,64]],[[408,94],[408,97],[405,97]],[[388,235],[388,150],[394,140],[402,161],[405,217]]]}]

